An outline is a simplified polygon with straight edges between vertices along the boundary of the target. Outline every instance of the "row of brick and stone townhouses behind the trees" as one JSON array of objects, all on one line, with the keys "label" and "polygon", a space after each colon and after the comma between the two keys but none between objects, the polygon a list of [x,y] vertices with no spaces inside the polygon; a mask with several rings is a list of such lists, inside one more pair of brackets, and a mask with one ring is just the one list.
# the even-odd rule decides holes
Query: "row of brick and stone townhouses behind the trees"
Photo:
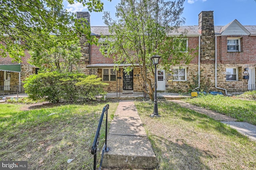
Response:
[{"label": "row of brick and stone townhouses behind the trees", "polygon": [[[255,90],[256,25],[241,25],[233,20],[227,25],[215,26],[213,11],[203,11],[198,16],[198,25],[180,26],[177,32],[168,35],[177,36],[185,32],[186,37],[182,39],[184,47],[198,48],[198,56],[190,64],[175,65],[169,70],[159,65],[157,90],[188,92],[193,87],[224,94]],[[77,17],[86,18],[90,24],[88,12],[77,12]],[[91,26],[91,32],[100,42],[103,41],[101,35],[110,35],[105,26]],[[121,64],[116,71],[113,59],[104,57],[99,46],[86,43],[84,37],[80,38],[80,43],[82,58],[78,64],[81,72],[98,75],[109,84],[106,87],[108,92],[142,92],[138,68],[125,74],[123,68],[127,65]],[[181,52],[186,53],[187,49]],[[24,78],[35,74],[36,68],[27,63],[28,58],[27,51],[22,63],[11,63],[8,57],[0,58],[0,86],[22,85]]]}]

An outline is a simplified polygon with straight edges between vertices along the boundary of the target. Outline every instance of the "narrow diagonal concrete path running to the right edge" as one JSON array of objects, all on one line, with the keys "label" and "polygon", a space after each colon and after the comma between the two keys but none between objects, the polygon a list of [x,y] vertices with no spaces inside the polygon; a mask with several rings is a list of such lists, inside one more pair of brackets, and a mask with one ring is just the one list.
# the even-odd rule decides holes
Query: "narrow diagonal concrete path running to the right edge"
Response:
[{"label": "narrow diagonal concrete path running to the right edge", "polygon": [[183,102],[181,100],[169,100],[169,101],[180,104],[180,106],[182,106],[182,107],[186,107],[188,109],[197,111],[198,113],[203,113],[215,120],[218,120],[222,123],[230,125],[230,127],[236,129],[238,132],[249,137],[253,141],[256,141],[256,126],[255,125],[251,125],[250,123],[247,123],[247,122],[238,122],[237,119],[235,119],[235,118],[223,115],[221,113],[217,113],[215,111],[207,110],[202,107],[194,106],[194,105],[188,104],[186,102]]}]

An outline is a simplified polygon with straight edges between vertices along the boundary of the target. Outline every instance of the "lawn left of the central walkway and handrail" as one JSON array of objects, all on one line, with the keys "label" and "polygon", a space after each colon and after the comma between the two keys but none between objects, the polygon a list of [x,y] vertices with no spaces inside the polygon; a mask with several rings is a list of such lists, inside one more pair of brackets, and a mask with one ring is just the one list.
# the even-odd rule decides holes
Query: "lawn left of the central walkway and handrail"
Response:
[{"label": "lawn left of the central walkway and handrail", "polygon": [[[0,104],[0,160],[26,160],[31,170],[93,169],[91,147],[105,105],[51,105],[22,111],[26,105]],[[117,105],[110,104],[110,117]]]}]

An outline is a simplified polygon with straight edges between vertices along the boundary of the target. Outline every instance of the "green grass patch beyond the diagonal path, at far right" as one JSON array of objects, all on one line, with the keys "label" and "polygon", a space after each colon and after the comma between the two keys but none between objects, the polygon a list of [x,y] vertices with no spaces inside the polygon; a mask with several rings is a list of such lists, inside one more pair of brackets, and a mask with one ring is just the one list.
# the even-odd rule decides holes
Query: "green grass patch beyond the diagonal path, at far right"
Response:
[{"label": "green grass patch beyond the diagonal path, at far right", "polygon": [[203,95],[184,101],[256,125],[256,102],[253,100],[235,96]]}]

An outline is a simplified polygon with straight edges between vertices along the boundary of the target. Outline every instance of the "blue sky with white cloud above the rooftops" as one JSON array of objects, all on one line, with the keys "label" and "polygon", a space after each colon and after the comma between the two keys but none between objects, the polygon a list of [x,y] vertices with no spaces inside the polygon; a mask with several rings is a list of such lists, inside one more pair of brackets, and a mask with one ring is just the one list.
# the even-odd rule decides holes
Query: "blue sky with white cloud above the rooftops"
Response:
[{"label": "blue sky with white cloud above the rooftops", "polygon": [[[120,0],[102,0],[104,11],[115,16],[116,4]],[[88,11],[79,3],[67,6],[64,1],[64,8],[71,12]],[[226,25],[238,20],[242,25],[256,25],[256,2],[254,0],[186,0],[182,17],[186,18],[184,25],[198,25],[198,14],[201,11],[214,11],[214,25]],[[103,12],[92,12],[91,26],[105,26],[102,20]]]}]

